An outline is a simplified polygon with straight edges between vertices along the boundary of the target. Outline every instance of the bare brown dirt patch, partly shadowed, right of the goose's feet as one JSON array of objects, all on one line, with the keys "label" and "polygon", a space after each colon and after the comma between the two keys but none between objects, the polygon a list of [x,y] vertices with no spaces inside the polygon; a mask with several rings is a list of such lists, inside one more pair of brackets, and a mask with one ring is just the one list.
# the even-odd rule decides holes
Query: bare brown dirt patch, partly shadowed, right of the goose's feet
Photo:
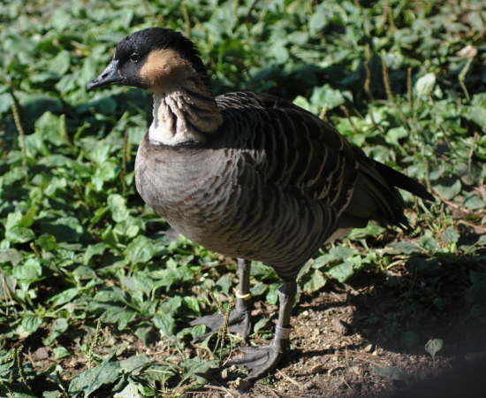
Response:
[{"label": "bare brown dirt patch, partly shadowed, right of the goose's feet", "polygon": [[[292,349],[272,376],[250,386],[219,379],[189,395],[486,397],[486,325],[468,315],[462,276],[404,270],[371,287],[324,288],[294,309]],[[444,341],[435,360],[431,339]]]}]

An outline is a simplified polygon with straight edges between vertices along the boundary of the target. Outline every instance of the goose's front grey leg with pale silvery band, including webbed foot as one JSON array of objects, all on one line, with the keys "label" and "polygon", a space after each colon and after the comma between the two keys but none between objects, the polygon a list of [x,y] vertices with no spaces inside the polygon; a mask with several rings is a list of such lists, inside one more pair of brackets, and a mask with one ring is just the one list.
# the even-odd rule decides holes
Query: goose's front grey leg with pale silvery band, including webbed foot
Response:
[{"label": "goose's front grey leg with pale silvery band, including webbed foot", "polygon": [[285,282],[278,290],[278,320],[273,341],[269,346],[241,348],[243,356],[233,359],[231,365],[244,365],[250,370],[247,380],[258,379],[274,369],[284,357],[289,345],[292,303],[297,291],[295,281]]}]

